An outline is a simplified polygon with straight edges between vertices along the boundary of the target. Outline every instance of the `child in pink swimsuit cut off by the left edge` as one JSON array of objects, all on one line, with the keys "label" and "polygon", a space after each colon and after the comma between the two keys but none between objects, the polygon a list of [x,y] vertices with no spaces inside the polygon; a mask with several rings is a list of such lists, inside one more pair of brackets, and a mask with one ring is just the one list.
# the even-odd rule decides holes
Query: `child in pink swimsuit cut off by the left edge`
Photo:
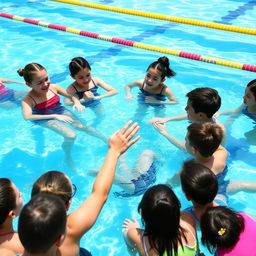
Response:
[{"label": "child in pink swimsuit cut off by the left edge", "polygon": [[21,99],[25,96],[27,91],[16,92],[13,89],[6,87],[4,85],[5,83],[24,84],[24,82],[0,77],[0,107],[15,107],[20,104]]}]

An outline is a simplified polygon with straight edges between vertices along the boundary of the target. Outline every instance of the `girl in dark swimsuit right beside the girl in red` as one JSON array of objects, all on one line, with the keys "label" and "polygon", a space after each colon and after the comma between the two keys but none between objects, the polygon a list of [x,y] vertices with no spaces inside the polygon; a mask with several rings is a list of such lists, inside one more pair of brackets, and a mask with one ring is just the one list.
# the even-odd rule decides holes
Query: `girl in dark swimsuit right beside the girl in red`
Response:
[{"label": "girl in dark swimsuit right beside the girl in red", "polygon": [[[85,107],[90,108],[95,113],[98,123],[104,116],[104,108],[100,99],[117,94],[117,90],[100,78],[92,77],[90,64],[82,57],[73,58],[69,63],[69,70],[75,82],[68,86],[67,92],[81,102],[83,105],[83,108],[80,109],[81,111]],[[107,92],[100,95],[97,92],[98,87],[103,88]],[[66,99],[65,103],[70,105],[74,102]]]}]

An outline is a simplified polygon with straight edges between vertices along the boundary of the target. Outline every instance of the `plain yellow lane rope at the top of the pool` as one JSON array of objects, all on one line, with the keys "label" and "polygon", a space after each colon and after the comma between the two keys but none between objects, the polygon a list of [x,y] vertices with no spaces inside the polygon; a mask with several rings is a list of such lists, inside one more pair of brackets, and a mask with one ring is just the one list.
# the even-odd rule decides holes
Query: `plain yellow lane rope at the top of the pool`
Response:
[{"label": "plain yellow lane rope at the top of the pool", "polygon": [[94,4],[94,3],[88,3],[83,1],[77,1],[77,0],[50,0],[54,2],[61,2],[66,4],[74,4],[74,5],[81,5],[88,8],[95,8],[105,11],[111,11],[111,12],[119,12],[124,14],[130,14],[135,16],[142,16],[152,19],[158,19],[158,20],[168,20],[176,23],[183,23],[183,24],[189,24],[194,26],[201,26],[201,27],[207,27],[207,28],[213,28],[213,29],[219,29],[219,30],[225,30],[225,31],[232,31],[236,33],[242,33],[242,34],[249,34],[249,35],[256,35],[256,29],[254,28],[245,28],[245,27],[239,27],[239,26],[233,26],[233,25],[226,25],[226,24],[220,24],[216,22],[208,22],[208,21],[201,21],[201,20],[195,20],[195,19],[188,19],[188,18],[181,18],[181,17],[175,17],[170,15],[164,15],[164,14],[158,14],[158,13],[151,13],[151,12],[144,12],[144,11],[138,11],[138,10],[131,10],[127,8],[120,8],[115,6],[108,6],[103,4]]}]

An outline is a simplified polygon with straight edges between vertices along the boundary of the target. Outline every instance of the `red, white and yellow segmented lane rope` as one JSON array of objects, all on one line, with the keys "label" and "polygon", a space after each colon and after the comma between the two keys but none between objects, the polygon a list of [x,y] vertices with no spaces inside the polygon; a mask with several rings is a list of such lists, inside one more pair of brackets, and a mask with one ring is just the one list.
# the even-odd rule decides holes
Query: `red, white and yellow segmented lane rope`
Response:
[{"label": "red, white and yellow segmented lane rope", "polygon": [[135,41],[131,41],[131,40],[111,37],[108,35],[97,34],[97,33],[89,32],[89,31],[84,31],[84,30],[79,30],[79,29],[70,28],[70,27],[66,27],[66,26],[61,26],[61,25],[51,24],[51,23],[47,23],[47,22],[43,22],[43,21],[38,21],[38,20],[34,20],[34,19],[24,18],[24,17],[20,17],[20,16],[16,16],[13,14],[8,14],[8,13],[0,13],[0,17],[13,19],[13,20],[17,20],[17,21],[22,21],[22,22],[26,22],[26,23],[30,23],[30,24],[38,25],[38,26],[43,26],[43,27],[47,27],[47,28],[51,28],[51,29],[61,30],[61,31],[69,32],[69,33],[74,33],[74,34],[78,34],[81,36],[105,40],[105,41],[109,41],[112,43],[123,44],[123,45],[131,46],[131,47],[137,47],[137,48],[141,48],[141,49],[145,49],[145,50],[149,50],[149,51],[162,52],[162,53],[166,53],[166,54],[170,54],[170,55],[179,56],[182,58],[203,61],[203,62],[207,62],[207,63],[212,63],[212,64],[217,64],[217,65],[247,70],[247,71],[251,71],[251,72],[256,72],[255,65],[242,64],[242,63],[238,63],[238,62],[203,56],[200,54],[183,52],[183,51],[173,50],[173,49],[169,49],[169,48],[158,47],[158,46],[154,46],[154,45],[150,45],[150,44],[143,44],[143,43],[139,43],[139,42],[135,42]]}]

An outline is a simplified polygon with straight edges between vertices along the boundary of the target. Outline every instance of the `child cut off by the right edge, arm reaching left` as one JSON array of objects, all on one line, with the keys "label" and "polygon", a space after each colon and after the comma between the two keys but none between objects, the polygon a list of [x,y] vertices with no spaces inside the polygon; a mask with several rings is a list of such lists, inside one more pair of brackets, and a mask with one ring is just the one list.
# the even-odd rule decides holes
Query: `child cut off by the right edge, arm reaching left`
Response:
[{"label": "child cut off by the right edge, arm reaching left", "polygon": [[[226,110],[223,112],[217,113],[215,116],[216,118],[220,115],[232,114],[231,119],[228,121],[230,125],[234,118],[238,117],[241,114],[244,114],[251,118],[254,123],[256,123],[256,79],[250,81],[245,89],[245,93],[243,96],[243,104],[239,106],[237,109],[234,110]],[[256,129],[252,129],[245,133],[247,142],[249,144],[256,145]]]}]

